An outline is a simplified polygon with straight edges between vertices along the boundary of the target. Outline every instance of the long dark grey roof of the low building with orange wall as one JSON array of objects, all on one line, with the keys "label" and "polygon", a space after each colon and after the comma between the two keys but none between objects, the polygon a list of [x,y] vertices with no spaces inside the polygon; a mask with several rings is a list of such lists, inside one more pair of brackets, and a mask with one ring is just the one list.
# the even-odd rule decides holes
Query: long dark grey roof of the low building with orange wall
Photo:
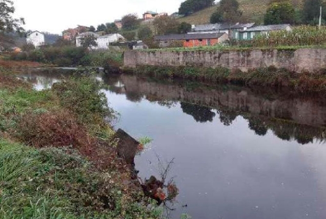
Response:
[{"label": "long dark grey roof of the low building with orange wall", "polygon": [[169,41],[169,40],[187,40],[187,39],[213,39],[219,38],[226,33],[193,33],[193,34],[170,34],[155,36],[156,41]]}]

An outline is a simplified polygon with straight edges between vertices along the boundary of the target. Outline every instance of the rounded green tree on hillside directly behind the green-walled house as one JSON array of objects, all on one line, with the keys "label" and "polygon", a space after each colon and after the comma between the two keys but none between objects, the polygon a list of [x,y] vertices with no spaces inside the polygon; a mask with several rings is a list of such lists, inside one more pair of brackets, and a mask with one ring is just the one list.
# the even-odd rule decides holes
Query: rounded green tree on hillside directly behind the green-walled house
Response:
[{"label": "rounded green tree on hillside directly behind the green-walled house", "polygon": [[295,10],[289,2],[272,3],[264,17],[264,24],[294,24]]}]

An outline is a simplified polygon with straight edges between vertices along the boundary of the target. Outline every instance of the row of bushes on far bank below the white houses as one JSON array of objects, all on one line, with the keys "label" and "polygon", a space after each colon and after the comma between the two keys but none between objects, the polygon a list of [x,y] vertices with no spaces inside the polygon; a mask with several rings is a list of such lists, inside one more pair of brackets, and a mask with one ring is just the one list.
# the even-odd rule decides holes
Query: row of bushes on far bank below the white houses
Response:
[{"label": "row of bushes on far bank below the white houses", "polygon": [[105,64],[122,65],[122,52],[116,50],[89,51],[83,47],[42,47],[39,49],[11,54],[15,61],[32,61],[68,66],[105,66]]}]

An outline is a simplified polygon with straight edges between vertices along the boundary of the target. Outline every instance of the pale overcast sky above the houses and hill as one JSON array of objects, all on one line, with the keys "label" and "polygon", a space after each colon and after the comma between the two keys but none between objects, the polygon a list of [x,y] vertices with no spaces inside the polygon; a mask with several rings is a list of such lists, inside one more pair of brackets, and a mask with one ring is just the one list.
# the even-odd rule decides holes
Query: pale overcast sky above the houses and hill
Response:
[{"label": "pale overcast sky above the houses and hill", "polygon": [[15,17],[24,17],[26,30],[61,33],[77,25],[113,22],[128,13],[178,11],[185,0],[13,0]]}]

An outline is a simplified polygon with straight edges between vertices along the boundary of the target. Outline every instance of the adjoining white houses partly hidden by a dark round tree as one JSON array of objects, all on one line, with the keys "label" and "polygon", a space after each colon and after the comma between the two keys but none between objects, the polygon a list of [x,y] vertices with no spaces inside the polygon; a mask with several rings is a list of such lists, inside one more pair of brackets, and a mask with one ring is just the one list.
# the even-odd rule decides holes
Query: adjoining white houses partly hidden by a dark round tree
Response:
[{"label": "adjoining white houses partly hidden by a dark round tree", "polygon": [[86,32],[86,33],[81,33],[76,37],[76,46],[77,47],[81,46],[80,39],[86,35],[93,35],[96,38],[97,46],[92,47],[92,49],[108,49],[108,46],[111,43],[125,40],[125,37],[119,33],[113,33],[113,34],[99,36],[98,34],[93,33],[93,32]]}]

